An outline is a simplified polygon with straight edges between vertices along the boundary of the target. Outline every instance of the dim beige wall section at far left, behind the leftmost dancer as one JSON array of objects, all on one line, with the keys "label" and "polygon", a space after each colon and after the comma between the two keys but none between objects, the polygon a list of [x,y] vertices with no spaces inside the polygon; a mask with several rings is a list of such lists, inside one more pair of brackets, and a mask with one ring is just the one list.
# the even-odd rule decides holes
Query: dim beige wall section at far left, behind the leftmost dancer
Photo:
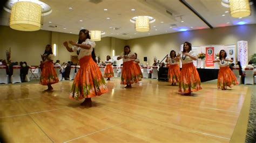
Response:
[{"label": "dim beige wall section at far left, behind the leftmost dancer", "polygon": [[0,26],[0,59],[6,59],[5,51],[11,47],[12,61],[39,65],[47,44],[51,44],[50,31],[23,32]]}]

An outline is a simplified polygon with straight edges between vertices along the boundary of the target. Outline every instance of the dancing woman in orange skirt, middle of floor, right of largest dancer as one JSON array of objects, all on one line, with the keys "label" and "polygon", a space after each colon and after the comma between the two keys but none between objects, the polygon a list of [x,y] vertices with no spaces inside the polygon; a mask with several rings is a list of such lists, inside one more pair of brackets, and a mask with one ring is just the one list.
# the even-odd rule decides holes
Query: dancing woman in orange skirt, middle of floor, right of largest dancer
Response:
[{"label": "dancing woman in orange skirt, middle of floor, right of largest dancer", "polygon": [[122,58],[123,69],[121,75],[121,84],[126,84],[125,88],[132,88],[132,84],[138,83],[142,80],[142,78],[139,76],[136,65],[133,63],[136,56],[131,52],[130,46],[124,46],[124,54],[118,56],[117,60]]}]

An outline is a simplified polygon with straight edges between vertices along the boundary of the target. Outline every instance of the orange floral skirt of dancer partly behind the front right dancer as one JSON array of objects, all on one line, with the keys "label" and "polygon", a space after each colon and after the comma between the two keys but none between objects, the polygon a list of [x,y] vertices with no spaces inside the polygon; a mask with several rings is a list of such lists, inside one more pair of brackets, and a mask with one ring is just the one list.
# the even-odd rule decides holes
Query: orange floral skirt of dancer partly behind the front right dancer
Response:
[{"label": "orange floral skirt of dancer partly behind the front right dancer", "polygon": [[180,77],[179,65],[170,65],[168,70],[168,81],[171,83],[178,83]]}]

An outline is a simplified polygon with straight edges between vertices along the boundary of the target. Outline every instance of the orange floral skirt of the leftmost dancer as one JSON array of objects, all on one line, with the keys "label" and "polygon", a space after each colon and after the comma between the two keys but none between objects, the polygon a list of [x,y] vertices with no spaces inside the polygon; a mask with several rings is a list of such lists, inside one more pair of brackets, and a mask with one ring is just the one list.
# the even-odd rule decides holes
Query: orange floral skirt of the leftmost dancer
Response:
[{"label": "orange floral skirt of the leftmost dancer", "polygon": [[55,69],[53,68],[51,61],[44,62],[42,74],[40,77],[40,84],[48,85],[48,84],[55,84],[59,82],[59,78]]}]

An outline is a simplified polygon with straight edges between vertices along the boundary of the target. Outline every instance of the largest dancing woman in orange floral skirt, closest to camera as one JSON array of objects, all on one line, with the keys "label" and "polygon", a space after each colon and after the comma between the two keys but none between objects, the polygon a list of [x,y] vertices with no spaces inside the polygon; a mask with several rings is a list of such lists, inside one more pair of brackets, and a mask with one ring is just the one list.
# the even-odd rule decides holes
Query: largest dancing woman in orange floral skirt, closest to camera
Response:
[{"label": "largest dancing woman in orange floral skirt, closest to camera", "polygon": [[78,43],[65,41],[63,45],[69,52],[76,52],[79,59],[80,68],[74,79],[70,98],[80,100],[85,98],[81,105],[92,106],[91,98],[107,92],[107,87],[102,73],[96,64],[94,52],[95,42],[90,40],[89,30],[80,30]]}]

